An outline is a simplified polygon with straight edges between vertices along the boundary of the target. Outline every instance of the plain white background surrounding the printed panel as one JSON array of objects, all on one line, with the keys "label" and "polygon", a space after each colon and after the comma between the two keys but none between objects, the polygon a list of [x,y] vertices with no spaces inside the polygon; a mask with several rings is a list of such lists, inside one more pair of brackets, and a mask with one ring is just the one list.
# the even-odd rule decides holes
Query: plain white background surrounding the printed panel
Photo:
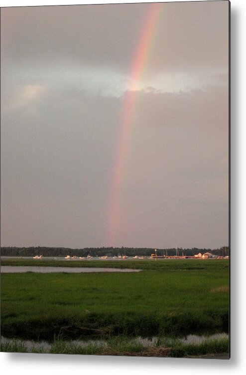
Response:
[{"label": "plain white background surrounding the printed panel", "polygon": [[[198,0],[200,1],[200,0]],[[143,1],[11,1],[0,0],[0,6],[69,5],[88,3],[150,2]],[[0,353],[2,374],[43,375],[70,373],[125,375],[176,374],[217,375],[244,374],[246,369],[246,310],[245,310],[245,215],[246,212],[246,118],[244,115],[244,87],[246,58],[246,1],[232,0],[231,44],[231,360],[190,360],[164,358],[100,357],[74,355],[8,354]],[[244,121],[245,120],[245,121]]]}]

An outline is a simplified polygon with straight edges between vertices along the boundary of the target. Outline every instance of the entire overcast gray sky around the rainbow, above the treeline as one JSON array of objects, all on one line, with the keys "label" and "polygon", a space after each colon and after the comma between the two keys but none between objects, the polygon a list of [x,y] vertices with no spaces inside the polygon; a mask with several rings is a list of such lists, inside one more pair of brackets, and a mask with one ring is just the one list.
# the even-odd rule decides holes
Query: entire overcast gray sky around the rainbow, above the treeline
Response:
[{"label": "entire overcast gray sky around the rainbow, above the treeline", "polygon": [[1,8],[1,246],[228,244],[228,1],[163,3],[109,243],[131,65],[151,3]]}]

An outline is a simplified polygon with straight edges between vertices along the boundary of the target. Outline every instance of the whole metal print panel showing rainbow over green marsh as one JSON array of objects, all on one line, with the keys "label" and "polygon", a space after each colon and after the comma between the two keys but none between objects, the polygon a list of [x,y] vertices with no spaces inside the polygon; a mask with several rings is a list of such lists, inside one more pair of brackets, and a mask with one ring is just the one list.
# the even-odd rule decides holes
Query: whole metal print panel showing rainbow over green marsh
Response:
[{"label": "whole metal print panel showing rainbow over green marsh", "polygon": [[230,2],[1,8],[1,351],[229,359]]}]

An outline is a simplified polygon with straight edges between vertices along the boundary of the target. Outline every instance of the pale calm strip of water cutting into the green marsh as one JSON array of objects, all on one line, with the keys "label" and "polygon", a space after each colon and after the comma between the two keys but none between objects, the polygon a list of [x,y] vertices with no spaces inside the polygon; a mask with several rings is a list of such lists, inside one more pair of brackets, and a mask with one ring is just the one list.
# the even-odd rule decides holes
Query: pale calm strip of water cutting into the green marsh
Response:
[{"label": "pale calm strip of water cutting into the green marsh", "polygon": [[1,266],[1,273],[39,272],[39,273],[83,273],[83,272],[139,272],[130,268],[96,268],[96,267],[39,267],[39,266]]}]

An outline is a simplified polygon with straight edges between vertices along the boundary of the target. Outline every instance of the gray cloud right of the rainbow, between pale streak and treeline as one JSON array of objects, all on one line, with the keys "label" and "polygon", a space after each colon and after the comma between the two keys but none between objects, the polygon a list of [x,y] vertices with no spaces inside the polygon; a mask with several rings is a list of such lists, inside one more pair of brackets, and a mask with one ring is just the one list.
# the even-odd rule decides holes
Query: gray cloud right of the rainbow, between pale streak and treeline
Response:
[{"label": "gray cloud right of the rainbow, between pale streak and treeline", "polygon": [[[156,246],[175,245],[175,241],[189,246],[195,241],[198,246],[213,247],[226,241],[227,88],[180,94],[140,92],[137,102],[121,226],[127,227],[129,242],[138,236],[143,245],[146,235]],[[132,220],[127,222],[128,217]]]}]

